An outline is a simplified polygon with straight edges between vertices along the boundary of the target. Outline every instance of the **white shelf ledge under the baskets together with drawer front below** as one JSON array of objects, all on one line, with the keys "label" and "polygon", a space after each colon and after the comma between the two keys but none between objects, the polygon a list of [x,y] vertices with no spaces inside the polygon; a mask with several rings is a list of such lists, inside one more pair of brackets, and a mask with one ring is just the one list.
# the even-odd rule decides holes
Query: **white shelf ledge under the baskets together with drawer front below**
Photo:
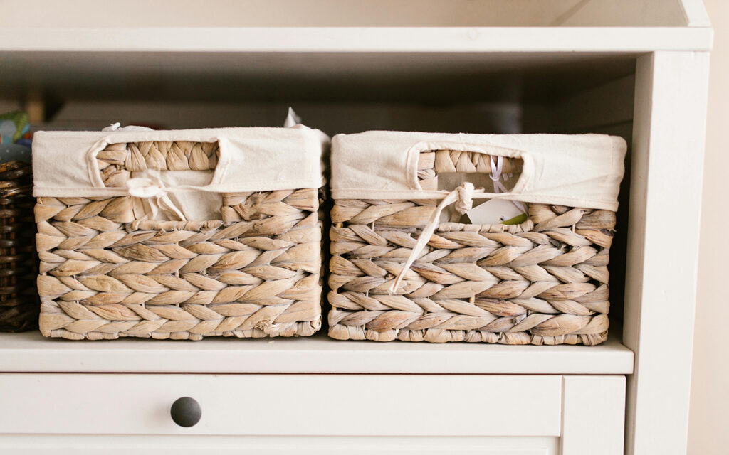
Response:
[{"label": "white shelf ledge under the baskets together with drawer front below", "polygon": [[[633,361],[615,339],[544,349],[1,334],[0,387],[13,393],[0,400],[0,453],[620,454]],[[200,404],[195,426],[171,419],[179,397]]]}]

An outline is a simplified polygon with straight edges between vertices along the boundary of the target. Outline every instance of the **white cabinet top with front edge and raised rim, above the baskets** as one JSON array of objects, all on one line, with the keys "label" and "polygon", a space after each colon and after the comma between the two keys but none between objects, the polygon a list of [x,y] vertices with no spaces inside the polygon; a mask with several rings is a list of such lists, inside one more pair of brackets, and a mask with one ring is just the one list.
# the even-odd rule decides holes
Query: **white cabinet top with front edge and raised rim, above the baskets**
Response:
[{"label": "white cabinet top with front edge and raised rim, above the baskets", "polygon": [[712,46],[701,0],[26,4],[21,12],[0,4],[0,52],[653,52]]}]

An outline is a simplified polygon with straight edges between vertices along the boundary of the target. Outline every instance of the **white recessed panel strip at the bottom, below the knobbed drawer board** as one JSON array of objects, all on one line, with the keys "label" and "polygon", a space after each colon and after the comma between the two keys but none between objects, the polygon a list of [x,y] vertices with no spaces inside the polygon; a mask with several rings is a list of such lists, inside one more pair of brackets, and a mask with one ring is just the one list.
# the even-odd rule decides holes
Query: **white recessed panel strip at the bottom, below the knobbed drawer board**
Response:
[{"label": "white recessed panel strip at the bottom, below the knobbed drawer board", "polygon": [[[3,435],[11,455],[556,455],[553,436]],[[583,452],[585,453],[585,452]],[[590,455],[594,452],[586,452]],[[569,454],[568,454],[569,455]]]}]

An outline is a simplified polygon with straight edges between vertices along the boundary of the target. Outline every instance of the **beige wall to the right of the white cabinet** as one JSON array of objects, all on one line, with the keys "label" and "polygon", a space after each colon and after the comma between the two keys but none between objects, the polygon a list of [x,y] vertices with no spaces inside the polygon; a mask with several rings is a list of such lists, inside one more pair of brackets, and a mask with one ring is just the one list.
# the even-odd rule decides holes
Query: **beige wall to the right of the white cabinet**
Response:
[{"label": "beige wall to the right of the white cabinet", "polygon": [[[703,172],[690,455],[729,454],[729,339],[725,337],[729,334],[725,324],[729,321],[729,241],[725,237],[729,224],[729,0],[704,0],[704,4],[715,37]],[[680,329],[666,328],[677,336],[667,339],[668,344],[681,342]]]}]

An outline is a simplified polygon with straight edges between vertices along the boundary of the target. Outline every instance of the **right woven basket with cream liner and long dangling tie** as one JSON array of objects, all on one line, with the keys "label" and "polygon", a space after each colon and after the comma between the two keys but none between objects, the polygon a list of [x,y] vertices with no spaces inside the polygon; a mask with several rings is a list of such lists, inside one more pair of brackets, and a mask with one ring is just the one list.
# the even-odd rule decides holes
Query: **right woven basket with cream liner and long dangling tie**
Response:
[{"label": "right woven basket with cream liner and long dangling tie", "polygon": [[[335,136],[330,336],[605,341],[607,264],[624,155],[623,139],[600,135]],[[496,156],[505,157],[504,173],[521,172],[512,191],[486,198],[466,183],[452,192],[438,189],[445,175],[491,173]],[[436,217],[439,204],[469,205],[477,197],[521,201],[529,218],[472,225]],[[461,208],[451,210],[451,221],[468,207]],[[424,234],[431,221],[432,234]],[[413,253],[421,238],[424,248]]]}]

